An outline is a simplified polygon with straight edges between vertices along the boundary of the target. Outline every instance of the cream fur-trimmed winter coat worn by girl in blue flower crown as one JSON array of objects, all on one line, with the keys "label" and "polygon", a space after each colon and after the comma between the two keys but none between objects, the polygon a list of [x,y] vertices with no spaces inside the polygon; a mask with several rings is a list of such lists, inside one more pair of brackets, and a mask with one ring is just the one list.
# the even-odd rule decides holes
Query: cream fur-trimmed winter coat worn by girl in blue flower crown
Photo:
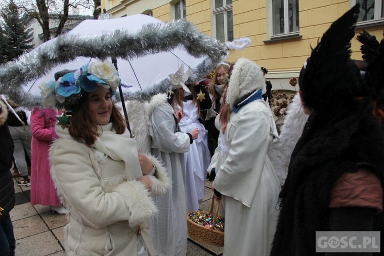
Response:
[{"label": "cream fur-trimmed winter coat worn by girl in blue flower crown", "polygon": [[[112,130],[111,123],[101,127]],[[128,131],[109,137],[117,140],[112,145],[126,152],[124,161],[75,141],[68,129],[56,126],[56,133],[60,138],[51,147],[51,174],[68,210],[67,255],[137,255],[138,238],[148,254],[156,255],[148,230],[157,212],[152,196],[164,194],[170,185],[161,163],[150,157],[156,172],[150,176],[148,191],[135,178],[141,169],[136,141]]]}]

